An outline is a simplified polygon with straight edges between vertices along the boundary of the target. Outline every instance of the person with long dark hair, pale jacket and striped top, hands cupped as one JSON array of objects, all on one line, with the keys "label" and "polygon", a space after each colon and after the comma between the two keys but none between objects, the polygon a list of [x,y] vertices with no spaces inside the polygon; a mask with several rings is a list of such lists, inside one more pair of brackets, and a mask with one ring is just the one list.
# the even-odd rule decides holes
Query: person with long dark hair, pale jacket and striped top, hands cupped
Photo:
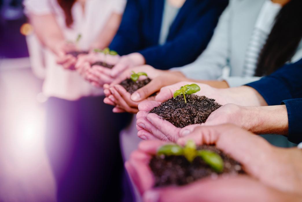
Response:
[{"label": "person with long dark hair, pale jacket and striped top, hands cupped", "polygon": [[117,94],[109,93],[107,97],[111,101],[106,101],[117,106],[116,111],[135,113],[140,101],[184,77],[217,88],[235,87],[259,80],[285,63],[296,62],[302,57],[301,3],[299,0],[231,0],[209,45],[195,62],[173,68],[171,73],[147,66],[129,69],[110,87],[129,77],[131,71],[146,72],[153,80],[131,96],[118,86],[116,89],[124,100],[113,102]]}]

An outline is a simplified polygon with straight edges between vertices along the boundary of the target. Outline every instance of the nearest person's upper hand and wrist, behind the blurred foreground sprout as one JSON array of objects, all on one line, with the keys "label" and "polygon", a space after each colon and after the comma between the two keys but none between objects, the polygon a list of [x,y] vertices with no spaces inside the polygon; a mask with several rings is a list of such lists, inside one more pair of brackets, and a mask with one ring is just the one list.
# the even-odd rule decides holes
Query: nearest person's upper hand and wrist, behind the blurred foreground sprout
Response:
[{"label": "nearest person's upper hand and wrist, behind the blurred foreground sprout", "polygon": [[187,140],[196,144],[215,144],[217,148],[232,156],[243,165],[252,177],[267,186],[302,193],[302,163],[298,159],[302,152],[298,149],[283,149],[270,145],[262,137],[256,136],[234,125],[199,126],[177,143],[184,145]]}]

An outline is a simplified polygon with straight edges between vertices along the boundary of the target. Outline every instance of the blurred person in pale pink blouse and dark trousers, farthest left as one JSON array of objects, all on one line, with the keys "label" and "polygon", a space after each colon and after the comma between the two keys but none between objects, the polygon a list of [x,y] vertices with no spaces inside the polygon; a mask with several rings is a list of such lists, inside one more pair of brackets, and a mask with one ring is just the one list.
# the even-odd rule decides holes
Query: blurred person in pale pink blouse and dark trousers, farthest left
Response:
[{"label": "blurred person in pale pink blouse and dark trousers, farthest left", "polygon": [[[125,3],[24,1],[45,51],[46,148],[58,201],[117,201],[122,196],[118,133],[126,115],[110,113],[112,108],[102,104],[103,90],[72,71],[77,58],[69,52],[107,47],[117,32]],[[116,194],[110,194],[112,190]]]}]

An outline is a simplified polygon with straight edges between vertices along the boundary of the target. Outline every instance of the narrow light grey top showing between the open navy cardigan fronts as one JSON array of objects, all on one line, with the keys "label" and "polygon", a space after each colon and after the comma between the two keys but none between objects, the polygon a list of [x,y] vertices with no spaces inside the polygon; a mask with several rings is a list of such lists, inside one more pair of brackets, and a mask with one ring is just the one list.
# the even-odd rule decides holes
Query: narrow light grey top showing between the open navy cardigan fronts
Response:
[{"label": "narrow light grey top showing between the open navy cardigan fronts", "polygon": [[170,27],[180,9],[178,7],[171,5],[168,0],[164,0],[164,1],[165,1],[165,5],[162,13],[162,26],[160,28],[160,34],[159,34],[160,45],[166,43]]}]

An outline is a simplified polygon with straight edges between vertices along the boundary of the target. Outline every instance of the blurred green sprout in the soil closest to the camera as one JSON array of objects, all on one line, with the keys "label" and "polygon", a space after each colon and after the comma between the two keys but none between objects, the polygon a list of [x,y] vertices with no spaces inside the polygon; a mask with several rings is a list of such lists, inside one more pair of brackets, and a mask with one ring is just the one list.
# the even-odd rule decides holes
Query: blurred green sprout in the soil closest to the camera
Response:
[{"label": "blurred green sprout in the soil closest to the camera", "polygon": [[193,140],[188,140],[185,147],[177,144],[166,144],[159,147],[157,155],[165,156],[185,156],[189,162],[193,162],[196,157],[200,157],[207,165],[209,165],[215,172],[223,172],[224,163],[221,156],[210,150],[197,150],[196,144]]}]

